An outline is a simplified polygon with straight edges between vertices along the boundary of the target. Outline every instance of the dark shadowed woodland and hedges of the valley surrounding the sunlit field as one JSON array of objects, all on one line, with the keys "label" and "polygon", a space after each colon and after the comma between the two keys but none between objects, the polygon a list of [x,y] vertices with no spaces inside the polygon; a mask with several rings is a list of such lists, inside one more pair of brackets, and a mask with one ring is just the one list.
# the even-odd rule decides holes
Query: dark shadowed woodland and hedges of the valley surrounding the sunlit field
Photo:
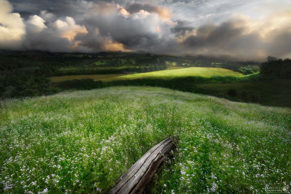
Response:
[{"label": "dark shadowed woodland and hedges of the valley surrounding the sunlit field", "polygon": [[[92,75],[118,73],[144,73],[165,70],[168,66],[218,67],[241,72],[244,75],[261,72],[256,79],[268,77],[290,77],[291,60],[276,59],[269,56],[267,62],[255,61],[213,61],[194,57],[172,57],[152,54],[125,54],[102,52],[98,54],[49,53],[49,52],[0,52],[0,97],[14,98],[53,94],[64,89],[91,89],[114,85],[161,86],[182,91],[221,96],[214,90],[201,89],[193,84],[207,82],[234,82],[236,78],[222,80],[136,80],[115,81],[111,83],[93,82],[93,80],[73,80],[64,83],[52,83],[49,77],[62,75]],[[195,81],[193,81],[193,79]],[[202,80],[199,80],[202,79]],[[226,79],[226,78],[223,78]],[[181,84],[183,83],[183,84]],[[191,83],[191,84],[190,84]],[[233,97],[229,92],[228,97]]]}]

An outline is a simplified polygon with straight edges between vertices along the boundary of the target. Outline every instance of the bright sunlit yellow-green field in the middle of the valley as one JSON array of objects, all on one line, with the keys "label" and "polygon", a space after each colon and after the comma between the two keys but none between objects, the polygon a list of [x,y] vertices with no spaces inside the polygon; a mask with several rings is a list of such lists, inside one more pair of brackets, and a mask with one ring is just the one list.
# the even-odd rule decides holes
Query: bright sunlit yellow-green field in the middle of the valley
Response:
[{"label": "bright sunlit yellow-green field in the middle of the valley", "polygon": [[242,76],[241,73],[223,69],[223,68],[210,68],[210,67],[189,67],[189,68],[179,68],[179,69],[169,69],[153,71],[148,73],[137,73],[130,75],[122,75],[118,77],[108,77],[95,79],[94,81],[101,80],[103,82],[110,82],[116,80],[134,80],[142,78],[150,79],[164,79],[170,80],[178,77],[189,77],[189,76],[201,76],[201,77],[211,77],[211,76]]}]

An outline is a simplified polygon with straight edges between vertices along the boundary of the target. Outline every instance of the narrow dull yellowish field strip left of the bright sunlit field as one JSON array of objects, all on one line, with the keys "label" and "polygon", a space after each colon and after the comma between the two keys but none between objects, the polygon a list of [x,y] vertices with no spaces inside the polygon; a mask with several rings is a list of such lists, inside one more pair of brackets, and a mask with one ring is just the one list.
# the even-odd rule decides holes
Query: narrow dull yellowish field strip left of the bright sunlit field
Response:
[{"label": "narrow dull yellowish field strip left of the bright sunlit field", "polygon": [[64,76],[55,76],[50,77],[52,82],[64,82],[68,80],[81,80],[81,79],[100,79],[100,78],[109,78],[109,77],[116,77],[122,76],[125,74],[105,74],[105,75],[64,75]]}]

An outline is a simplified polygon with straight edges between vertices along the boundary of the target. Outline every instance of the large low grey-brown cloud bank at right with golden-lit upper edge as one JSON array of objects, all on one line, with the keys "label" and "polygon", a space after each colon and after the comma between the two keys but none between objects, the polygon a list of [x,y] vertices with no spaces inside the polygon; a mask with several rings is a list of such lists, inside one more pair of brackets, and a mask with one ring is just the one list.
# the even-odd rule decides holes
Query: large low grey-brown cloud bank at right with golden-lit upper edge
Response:
[{"label": "large low grey-brown cloud bank at right with golden-lit upper edge", "polygon": [[[281,29],[253,27],[247,19],[237,18],[220,25],[201,26],[183,36],[180,43],[192,54],[223,55],[236,59],[262,60],[267,55],[288,57],[291,33],[288,25]],[[268,31],[266,33],[262,33]]]}]

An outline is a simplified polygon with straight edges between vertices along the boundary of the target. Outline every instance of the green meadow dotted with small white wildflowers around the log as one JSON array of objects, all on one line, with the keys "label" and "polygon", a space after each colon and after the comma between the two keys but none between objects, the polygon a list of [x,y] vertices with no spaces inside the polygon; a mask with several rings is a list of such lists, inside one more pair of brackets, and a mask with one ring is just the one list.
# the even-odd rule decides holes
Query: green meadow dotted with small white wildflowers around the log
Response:
[{"label": "green meadow dotted with small white wildflowers around the log", "polygon": [[155,87],[111,87],[0,104],[1,193],[106,193],[148,149],[178,149],[147,193],[291,187],[291,109]]}]

